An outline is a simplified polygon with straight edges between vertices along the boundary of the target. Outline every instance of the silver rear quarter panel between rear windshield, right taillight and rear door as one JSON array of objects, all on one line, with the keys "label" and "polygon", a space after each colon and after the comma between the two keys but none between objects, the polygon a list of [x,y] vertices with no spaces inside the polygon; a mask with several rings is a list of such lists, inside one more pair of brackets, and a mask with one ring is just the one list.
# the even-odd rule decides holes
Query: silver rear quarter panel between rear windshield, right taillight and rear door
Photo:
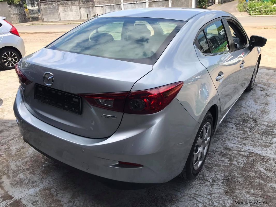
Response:
[{"label": "silver rear quarter panel between rear windshield, right taillight and rear door", "polygon": [[201,123],[209,108],[216,105],[219,120],[219,96],[207,69],[198,60],[193,42],[205,23],[225,14],[207,10],[189,20],[153,65],[153,70],[137,81],[132,91],[183,81],[177,99],[185,110]]}]

